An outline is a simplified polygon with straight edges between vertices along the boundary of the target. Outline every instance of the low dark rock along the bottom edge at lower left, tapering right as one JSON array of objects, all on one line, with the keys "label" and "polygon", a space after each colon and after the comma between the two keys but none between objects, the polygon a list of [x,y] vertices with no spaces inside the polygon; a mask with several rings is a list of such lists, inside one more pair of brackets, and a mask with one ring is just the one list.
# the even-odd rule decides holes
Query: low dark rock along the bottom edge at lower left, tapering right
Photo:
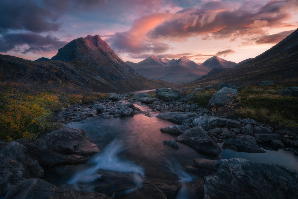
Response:
[{"label": "low dark rock along the bottom edge at lower left, tapering right", "polygon": [[60,189],[38,178],[31,178],[20,182],[13,187],[4,199],[31,199],[31,198],[51,198],[51,199],[109,199],[109,196],[96,192],[82,192],[75,189]]}]

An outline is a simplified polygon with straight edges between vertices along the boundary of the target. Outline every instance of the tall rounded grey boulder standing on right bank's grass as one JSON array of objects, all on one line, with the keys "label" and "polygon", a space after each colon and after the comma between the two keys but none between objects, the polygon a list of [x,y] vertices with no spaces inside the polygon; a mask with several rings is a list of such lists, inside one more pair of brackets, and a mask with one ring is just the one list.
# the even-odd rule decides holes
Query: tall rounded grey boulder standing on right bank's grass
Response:
[{"label": "tall rounded grey boulder standing on right bank's grass", "polygon": [[212,95],[207,108],[227,107],[233,103],[234,96],[238,96],[237,90],[224,87]]}]

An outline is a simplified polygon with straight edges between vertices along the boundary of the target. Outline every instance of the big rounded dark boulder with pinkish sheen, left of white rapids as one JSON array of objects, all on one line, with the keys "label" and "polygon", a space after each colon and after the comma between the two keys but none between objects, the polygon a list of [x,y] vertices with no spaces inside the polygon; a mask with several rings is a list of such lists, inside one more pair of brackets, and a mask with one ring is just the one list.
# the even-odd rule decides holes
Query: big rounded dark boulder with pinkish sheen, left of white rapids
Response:
[{"label": "big rounded dark boulder with pinkish sheen, left of white rapids", "polygon": [[70,127],[47,133],[28,144],[26,148],[45,167],[63,163],[82,163],[99,152],[99,148],[84,131]]}]

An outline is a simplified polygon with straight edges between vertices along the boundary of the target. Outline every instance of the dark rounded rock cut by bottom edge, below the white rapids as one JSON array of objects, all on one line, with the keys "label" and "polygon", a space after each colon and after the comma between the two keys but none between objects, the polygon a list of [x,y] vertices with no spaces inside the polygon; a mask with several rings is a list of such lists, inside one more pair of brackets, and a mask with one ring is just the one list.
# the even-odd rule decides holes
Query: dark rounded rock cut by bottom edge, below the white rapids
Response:
[{"label": "dark rounded rock cut by bottom edge, below the white rapids", "polygon": [[145,184],[139,189],[129,193],[126,199],[167,199],[166,195],[154,184]]}]

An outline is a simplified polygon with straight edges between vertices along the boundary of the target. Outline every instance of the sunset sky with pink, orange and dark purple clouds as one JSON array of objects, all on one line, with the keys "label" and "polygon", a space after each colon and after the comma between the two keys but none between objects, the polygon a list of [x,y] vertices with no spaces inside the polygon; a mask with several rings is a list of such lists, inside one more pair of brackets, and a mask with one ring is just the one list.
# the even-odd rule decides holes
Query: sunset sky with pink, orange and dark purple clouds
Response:
[{"label": "sunset sky with pink, orange and dark purple clouds", "polygon": [[51,58],[99,35],[123,60],[253,58],[298,27],[298,0],[0,0],[0,53]]}]

